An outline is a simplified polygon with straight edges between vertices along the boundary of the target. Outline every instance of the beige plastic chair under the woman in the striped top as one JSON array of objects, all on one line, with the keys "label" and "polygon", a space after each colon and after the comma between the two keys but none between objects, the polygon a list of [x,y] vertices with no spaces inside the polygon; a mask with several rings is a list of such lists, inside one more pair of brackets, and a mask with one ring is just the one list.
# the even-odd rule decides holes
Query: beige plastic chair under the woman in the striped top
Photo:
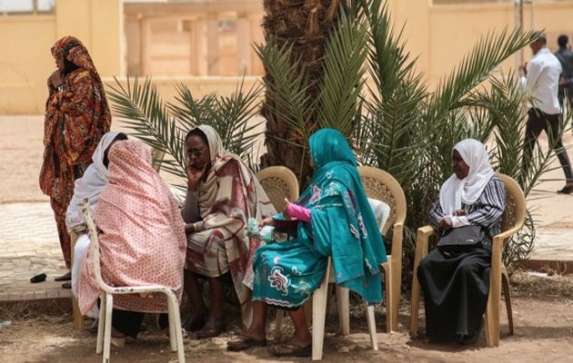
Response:
[{"label": "beige plastic chair under the woman in the striped top", "polygon": [[[525,196],[518,182],[505,174],[498,178],[506,186],[506,210],[501,220],[501,233],[494,236],[491,248],[491,271],[489,278],[489,298],[486,309],[486,343],[488,347],[499,345],[499,305],[501,304],[501,285],[503,283],[508,310],[509,335],[513,335],[513,315],[511,313],[511,290],[509,289],[508,270],[501,260],[505,244],[523,227],[526,218]],[[431,226],[417,230],[416,257],[414,259],[414,280],[412,282],[412,311],[410,320],[410,336],[417,337],[417,317],[420,305],[420,284],[417,280],[417,266],[427,255],[427,241],[435,233]]]}]

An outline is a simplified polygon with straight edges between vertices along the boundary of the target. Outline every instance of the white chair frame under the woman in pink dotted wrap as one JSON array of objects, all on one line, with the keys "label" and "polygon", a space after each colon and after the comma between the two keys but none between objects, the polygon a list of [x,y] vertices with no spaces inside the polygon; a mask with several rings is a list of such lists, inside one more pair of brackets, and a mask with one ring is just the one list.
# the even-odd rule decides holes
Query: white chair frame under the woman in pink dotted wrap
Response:
[{"label": "white chair frame under the woman in pink dotted wrap", "polygon": [[181,317],[179,315],[179,303],[177,302],[175,292],[173,292],[172,289],[161,285],[126,286],[120,288],[112,288],[111,286],[107,285],[106,282],[102,279],[99,260],[99,240],[97,238],[97,230],[95,229],[94,219],[92,218],[92,212],[89,208],[87,200],[84,201],[83,211],[85,216],[85,224],[87,225],[87,232],[90,239],[91,254],[94,259],[95,280],[97,281],[97,286],[102,289],[102,293],[100,295],[99,326],[97,328],[97,343],[95,346],[95,353],[101,353],[103,348],[103,362],[109,363],[114,295],[161,292],[166,294],[167,297],[169,313],[169,343],[171,346],[171,351],[177,352],[179,363],[185,363],[185,350],[183,348],[183,334],[181,331]]}]

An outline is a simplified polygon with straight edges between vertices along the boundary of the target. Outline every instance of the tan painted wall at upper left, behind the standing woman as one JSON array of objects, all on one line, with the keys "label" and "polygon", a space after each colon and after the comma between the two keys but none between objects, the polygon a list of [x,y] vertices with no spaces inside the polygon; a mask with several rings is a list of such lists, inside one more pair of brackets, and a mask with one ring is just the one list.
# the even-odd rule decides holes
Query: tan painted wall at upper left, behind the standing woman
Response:
[{"label": "tan painted wall at upper left, behind the standing woman", "polygon": [[0,17],[0,114],[44,113],[46,79],[55,70],[50,47],[75,35],[100,74],[122,74],[120,0],[58,0],[54,15]]}]

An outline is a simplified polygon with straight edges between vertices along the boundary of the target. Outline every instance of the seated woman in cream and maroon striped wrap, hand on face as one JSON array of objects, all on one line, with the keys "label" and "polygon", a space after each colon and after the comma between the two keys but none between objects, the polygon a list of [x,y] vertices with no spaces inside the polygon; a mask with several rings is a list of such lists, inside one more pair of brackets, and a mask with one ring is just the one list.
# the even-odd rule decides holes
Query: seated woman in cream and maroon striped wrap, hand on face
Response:
[{"label": "seated woman in cream and maroon striped wrap, hand on face", "polygon": [[[246,221],[271,216],[275,209],[253,172],[225,150],[212,127],[201,125],[187,133],[186,162],[187,194],[182,213],[191,317],[185,326],[191,331],[201,329],[197,338],[210,338],[226,329],[222,280],[226,272],[233,280],[243,321],[250,323],[251,261],[260,242],[246,238]],[[208,280],[210,309],[203,301],[198,277]]]}]

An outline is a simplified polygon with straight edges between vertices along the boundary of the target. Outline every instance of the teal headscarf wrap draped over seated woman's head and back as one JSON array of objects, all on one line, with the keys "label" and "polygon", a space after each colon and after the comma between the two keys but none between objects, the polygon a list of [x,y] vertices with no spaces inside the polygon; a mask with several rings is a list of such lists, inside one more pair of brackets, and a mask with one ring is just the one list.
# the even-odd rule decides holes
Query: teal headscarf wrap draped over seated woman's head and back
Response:
[{"label": "teal headscarf wrap draped over seated woman's head and back", "polygon": [[[309,144],[315,173],[297,204],[312,210],[312,221],[299,223],[298,237],[312,243],[317,253],[332,256],[337,284],[357,291],[367,302],[380,302],[379,267],[387,254],[354,152],[333,129],[315,132]],[[329,191],[333,185],[341,187]]]}]

